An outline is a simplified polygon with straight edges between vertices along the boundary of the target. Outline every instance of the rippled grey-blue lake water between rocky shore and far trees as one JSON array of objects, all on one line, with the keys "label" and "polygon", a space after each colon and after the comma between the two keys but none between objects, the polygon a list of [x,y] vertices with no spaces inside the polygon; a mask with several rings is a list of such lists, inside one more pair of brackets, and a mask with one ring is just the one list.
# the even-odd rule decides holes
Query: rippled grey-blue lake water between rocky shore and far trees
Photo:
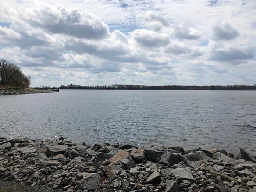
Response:
[{"label": "rippled grey-blue lake water between rocky shore and far trees", "polygon": [[256,91],[60,90],[0,96],[0,136],[227,150],[256,146]]}]

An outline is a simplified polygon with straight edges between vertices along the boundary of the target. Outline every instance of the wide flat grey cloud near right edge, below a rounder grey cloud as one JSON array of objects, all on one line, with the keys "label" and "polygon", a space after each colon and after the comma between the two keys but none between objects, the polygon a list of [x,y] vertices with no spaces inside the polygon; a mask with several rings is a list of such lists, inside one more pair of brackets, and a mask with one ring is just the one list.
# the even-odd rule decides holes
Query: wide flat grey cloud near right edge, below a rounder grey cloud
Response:
[{"label": "wide flat grey cloud near right edge, below a rounder grey cloud", "polygon": [[233,46],[218,47],[211,52],[210,60],[213,61],[239,61],[254,58],[252,47],[249,46]]}]

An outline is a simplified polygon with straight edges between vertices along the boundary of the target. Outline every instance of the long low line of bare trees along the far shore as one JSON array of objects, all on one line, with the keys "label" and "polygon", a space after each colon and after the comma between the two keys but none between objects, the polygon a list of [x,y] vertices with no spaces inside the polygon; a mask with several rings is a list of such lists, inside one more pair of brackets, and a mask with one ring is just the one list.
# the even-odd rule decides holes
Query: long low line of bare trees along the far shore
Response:
[{"label": "long low line of bare trees along the far shore", "polygon": [[256,90],[256,84],[252,85],[210,85],[210,86],[146,86],[146,85],[103,85],[103,86],[81,86],[61,85],[59,89],[117,89],[117,90]]}]

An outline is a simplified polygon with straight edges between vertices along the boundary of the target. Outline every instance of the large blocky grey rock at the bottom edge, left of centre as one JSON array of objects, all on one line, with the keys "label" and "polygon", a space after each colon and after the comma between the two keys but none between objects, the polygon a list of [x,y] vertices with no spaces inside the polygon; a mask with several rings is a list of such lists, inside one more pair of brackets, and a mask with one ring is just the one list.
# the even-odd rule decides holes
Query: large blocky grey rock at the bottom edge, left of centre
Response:
[{"label": "large blocky grey rock at the bottom edge, left of centre", "polygon": [[83,190],[95,191],[102,184],[102,178],[97,173],[83,172],[80,175],[83,176],[81,180]]}]

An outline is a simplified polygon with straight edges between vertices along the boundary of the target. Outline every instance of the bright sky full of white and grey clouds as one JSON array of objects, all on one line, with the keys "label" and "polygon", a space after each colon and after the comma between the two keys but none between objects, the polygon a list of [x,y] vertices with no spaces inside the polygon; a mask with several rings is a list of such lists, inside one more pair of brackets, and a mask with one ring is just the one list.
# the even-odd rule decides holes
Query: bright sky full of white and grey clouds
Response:
[{"label": "bright sky full of white and grey clouds", "polygon": [[256,83],[255,0],[1,0],[31,86]]}]

